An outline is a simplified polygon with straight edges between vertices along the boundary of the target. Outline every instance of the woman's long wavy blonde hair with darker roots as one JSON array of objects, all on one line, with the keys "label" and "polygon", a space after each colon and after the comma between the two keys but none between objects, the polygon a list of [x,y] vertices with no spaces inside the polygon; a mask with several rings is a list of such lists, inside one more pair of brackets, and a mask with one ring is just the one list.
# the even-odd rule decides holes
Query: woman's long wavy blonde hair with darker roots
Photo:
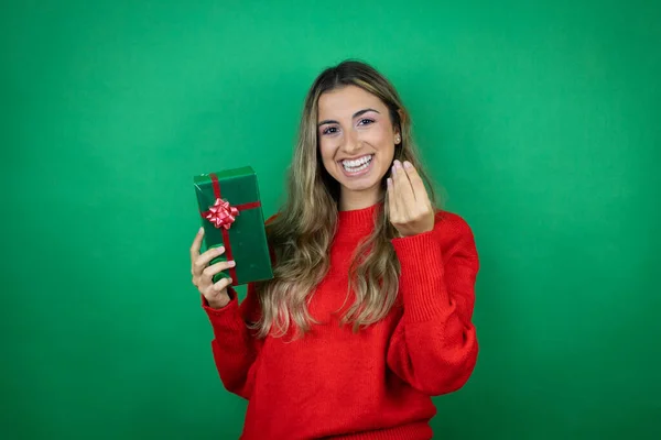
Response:
[{"label": "woman's long wavy blonde hair with darker roots", "polygon": [[[411,162],[423,178],[432,204],[435,191],[427,178],[411,136],[411,122],[394,87],[373,67],[345,61],[325,69],[313,82],[305,99],[299,140],[289,172],[289,197],[267,226],[269,244],[274,252],[274,278],[256,285],[260,302],[259,320],[251,327],[258,337],[284,336],[295,324],[299,333],[310,330],[314,319],[307,301],[329,266],[329,248],[336,226],[339,184],[324,168],[318,154],[317,105],[322,94],[354,85],[377,96],[388,107],[393,128],[402,141],[394,158]],[[342,318],[354,331],[388,315],[395,304],[400,266],[390,240],[397,235],[388,217],[386,177],[372,233],[354,255],[347,298],[355,301]]]}]

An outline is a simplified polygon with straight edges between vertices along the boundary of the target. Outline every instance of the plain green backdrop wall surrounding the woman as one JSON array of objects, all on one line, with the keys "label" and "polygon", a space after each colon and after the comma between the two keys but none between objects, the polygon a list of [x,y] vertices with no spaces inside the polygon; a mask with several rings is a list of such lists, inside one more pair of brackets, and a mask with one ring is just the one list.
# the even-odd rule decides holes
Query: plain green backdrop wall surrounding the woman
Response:
[{"label": "plain green backdrop wall surrounding the woman", "polygon": [[436,437],[661,438],[660,10],[4,1],[1,437],[238,437],[192,176],[251,165],[272,213],[307,87],[359,57],[481,255],[479,362]]}]

